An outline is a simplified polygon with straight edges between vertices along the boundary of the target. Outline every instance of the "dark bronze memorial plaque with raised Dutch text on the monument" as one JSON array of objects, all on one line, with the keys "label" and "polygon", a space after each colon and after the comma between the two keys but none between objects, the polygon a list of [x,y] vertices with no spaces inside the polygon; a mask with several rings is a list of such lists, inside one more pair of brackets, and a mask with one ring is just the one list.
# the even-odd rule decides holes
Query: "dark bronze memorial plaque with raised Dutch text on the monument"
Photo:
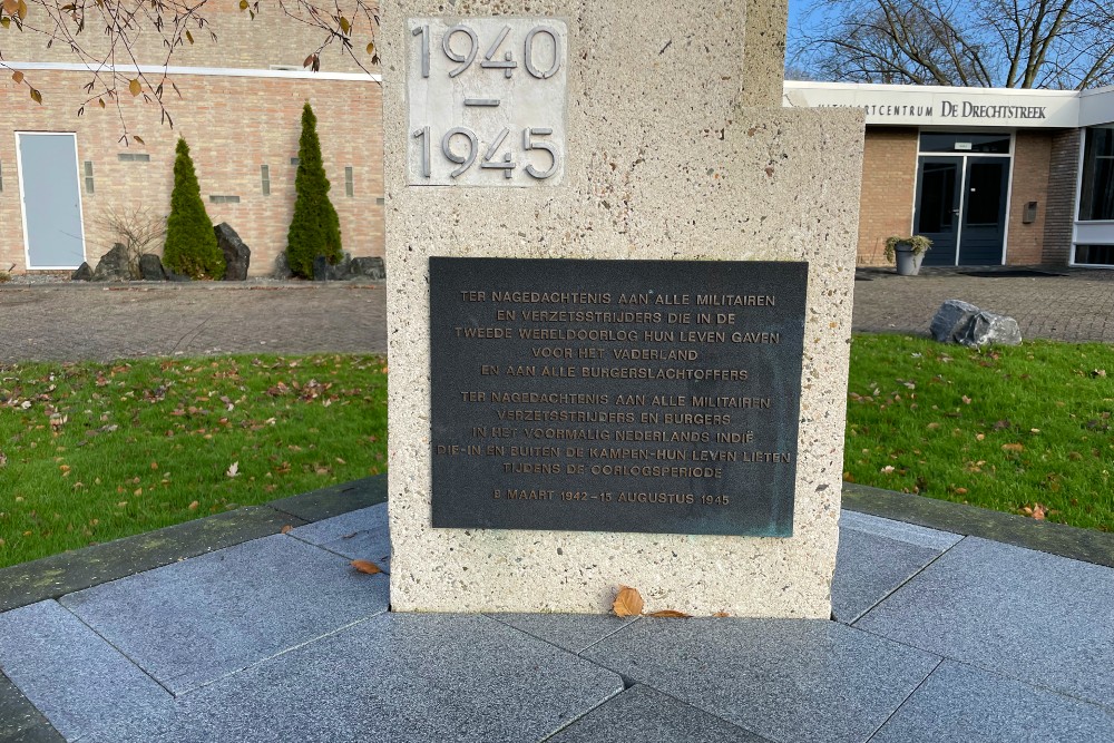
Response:
[{"label": "dark bronze memorial plaque with raised Dutch text on the monument", "polygon": [[808,273],[431,257],[433,526],[792,536]]}]

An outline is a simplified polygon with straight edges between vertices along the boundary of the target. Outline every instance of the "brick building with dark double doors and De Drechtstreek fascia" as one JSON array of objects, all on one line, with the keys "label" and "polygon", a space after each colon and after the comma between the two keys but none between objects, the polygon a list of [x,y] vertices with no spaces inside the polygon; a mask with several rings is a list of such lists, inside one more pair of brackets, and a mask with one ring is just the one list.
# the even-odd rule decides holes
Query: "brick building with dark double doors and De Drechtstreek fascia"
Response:
[{"label": "brick building with dark double doors and De Drechtstreek fascia", "polygon": [[1114,88],[785,82],[867,118],[859,263],[922,234],[925,265],[1114,266]]}]

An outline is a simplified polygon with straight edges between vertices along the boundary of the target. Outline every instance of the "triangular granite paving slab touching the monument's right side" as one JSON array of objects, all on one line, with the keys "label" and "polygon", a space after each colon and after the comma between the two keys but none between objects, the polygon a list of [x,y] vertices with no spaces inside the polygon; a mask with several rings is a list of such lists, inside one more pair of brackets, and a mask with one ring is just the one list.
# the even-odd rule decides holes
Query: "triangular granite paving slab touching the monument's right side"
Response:
[{"label": "triangular granite paving slab touching the monument's right side", "polygon": [[956,534],[842,511],[832,614],[851,624],[940,554]]}]

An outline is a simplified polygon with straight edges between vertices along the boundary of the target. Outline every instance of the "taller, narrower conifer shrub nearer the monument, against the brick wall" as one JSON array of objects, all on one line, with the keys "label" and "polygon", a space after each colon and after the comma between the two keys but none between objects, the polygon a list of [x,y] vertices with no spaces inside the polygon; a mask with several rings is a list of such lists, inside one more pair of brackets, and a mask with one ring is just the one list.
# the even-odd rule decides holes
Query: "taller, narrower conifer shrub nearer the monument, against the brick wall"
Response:
[{"label": "taller, narrower conifer shrub nearer the monument, against the brick wall", "polygon": [[321,162],[317,117],[310,104],[302,108],[302,136],[297,143],[297,174],[294,176],[294,216],[286,233],[286,262],[295,276],[313,277],[313,258],[324,255],[340,263],[341,221],[329,201],[329,178]]}]

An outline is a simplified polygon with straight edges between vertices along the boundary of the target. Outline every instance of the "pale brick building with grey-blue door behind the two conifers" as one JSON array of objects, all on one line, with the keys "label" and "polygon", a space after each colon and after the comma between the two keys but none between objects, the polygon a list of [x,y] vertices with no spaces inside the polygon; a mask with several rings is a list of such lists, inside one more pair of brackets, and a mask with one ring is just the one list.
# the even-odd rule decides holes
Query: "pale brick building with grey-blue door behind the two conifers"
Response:
[{"label": "pale brick building with grey-blue door behind the two conifers", "polygon": [[[84,86],[89,68],[35,33],[0,30],[4,62],[33,82],[0,82],[0,270],[17,273],[96,265],[119,239],[113,214],[169,212],[175,144],[185,137],[214,223],[227,222],[252,248],[251,275],[267,274],[286,247],[302,105],[317,116],[330,196],[344,250],[383,254],[382,108],[377,75],[328,48],[321,71],[302,71],[320,33],[277,14],[254,20],[236,3],[212,3],[212,30],[193,29],[166,60],[162,39],[141,36],[138,66],[120,67],[164,85],[173,128],[143,97],[101,108]],[[32,12],[38,6],[32,6]],[[32,19],[29,19],[32,20]],[[96,35],[89,35],[97,43]],[[92,55],[97,49],[90,49]],[[180,96],[170,92],[170,82]],[[85,106],[84,115],[78,116]],[[141,140],[121,141],[126,130]],[[157,245],[155,252],[160,252]]]}]

